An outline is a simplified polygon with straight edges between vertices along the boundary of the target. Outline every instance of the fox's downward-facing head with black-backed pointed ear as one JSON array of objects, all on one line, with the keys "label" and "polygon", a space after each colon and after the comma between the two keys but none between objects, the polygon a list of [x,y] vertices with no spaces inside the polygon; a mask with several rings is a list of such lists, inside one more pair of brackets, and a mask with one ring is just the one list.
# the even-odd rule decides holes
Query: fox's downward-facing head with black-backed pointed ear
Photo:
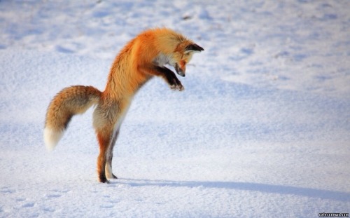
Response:
[{"label": "fox's downward-facing head with black-backed pointed ear", "polygon": [[183,41],[176,47],[172,62],[169,64],[175,68],[177,74],[186,76],[186,64],[190,62],[194,53],[199,53],[202,50],[204,49],[201,46],[192,41]]}]

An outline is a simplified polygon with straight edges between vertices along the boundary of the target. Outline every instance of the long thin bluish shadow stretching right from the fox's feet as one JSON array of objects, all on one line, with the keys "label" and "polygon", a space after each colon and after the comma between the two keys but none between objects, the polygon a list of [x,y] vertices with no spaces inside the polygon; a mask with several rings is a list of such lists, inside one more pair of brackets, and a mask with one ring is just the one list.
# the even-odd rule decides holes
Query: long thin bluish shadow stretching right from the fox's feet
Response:
[{"label": "long thin bluish shadow stretching right from the fox's feet", "polygon": [[263,193],[279,193],[281,195],[305,196],[326,200],[339,200],[350,202],[350,193],[341,191],[328,191],[322,189],[302,188],[272,184],[259,184],[251,182],[193,182],[193,181],[167,181],[146,179],[120,179],[116,184],[130,186],[170,186],[170,187],[204,187],[216,189],[236,189],[243,191],[260,191]]}]

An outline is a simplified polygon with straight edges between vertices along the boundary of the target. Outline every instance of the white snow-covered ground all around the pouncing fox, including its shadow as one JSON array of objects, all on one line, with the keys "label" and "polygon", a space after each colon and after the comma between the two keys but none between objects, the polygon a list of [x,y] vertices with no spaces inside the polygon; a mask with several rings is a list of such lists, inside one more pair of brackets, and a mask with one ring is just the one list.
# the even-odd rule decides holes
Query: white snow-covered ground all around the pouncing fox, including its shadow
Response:
[{"label": "white snow-covered ground all around the pouncing fox, including its shadow", "polygon": [[[318,217],[350,208],[350,1],[0,1],[0,217]],[[150,27],[204,48],[153,79],[97,182],[92,111],[55,151],[45,110],[103,90]]]}]

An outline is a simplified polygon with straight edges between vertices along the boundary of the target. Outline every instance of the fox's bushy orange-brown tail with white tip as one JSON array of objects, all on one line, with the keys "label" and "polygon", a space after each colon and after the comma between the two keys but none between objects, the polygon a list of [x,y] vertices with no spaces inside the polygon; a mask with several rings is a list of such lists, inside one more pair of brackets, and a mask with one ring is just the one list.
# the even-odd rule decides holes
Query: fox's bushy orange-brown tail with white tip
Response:
[{"label": "fox's bushy orange-brown tail with white tip", "polygon": [[55,149],[72,116],[83,114],[92,105],[98,104],[101,91],[92,86],[64,88],[52,99],[45,118],[43,138],[48,150]]}]

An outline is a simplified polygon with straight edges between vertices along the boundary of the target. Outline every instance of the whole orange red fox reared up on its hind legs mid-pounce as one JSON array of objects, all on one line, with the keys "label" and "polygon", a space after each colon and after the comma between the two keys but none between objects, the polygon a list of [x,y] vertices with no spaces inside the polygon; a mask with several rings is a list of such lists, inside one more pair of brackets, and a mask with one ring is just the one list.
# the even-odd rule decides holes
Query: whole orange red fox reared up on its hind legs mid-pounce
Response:
[{"label": "whole orange red fox reared up on its hind legs mid-pounce", "polygon": [[113,147],[134,95],[155,76],[172,90],[183,91],[177,74],[186,76],[186,64],[194,53],[204,50],[179,32],[166,27],[146,29],[134,37],[116,56],[104,91],[93,86],[70,86],[53,97],[45,116],[45,147],[55,149],[71,118],[94,106],[92,125],[99,144],[97,176],[99,182],[118,179],[112,172]]}]

